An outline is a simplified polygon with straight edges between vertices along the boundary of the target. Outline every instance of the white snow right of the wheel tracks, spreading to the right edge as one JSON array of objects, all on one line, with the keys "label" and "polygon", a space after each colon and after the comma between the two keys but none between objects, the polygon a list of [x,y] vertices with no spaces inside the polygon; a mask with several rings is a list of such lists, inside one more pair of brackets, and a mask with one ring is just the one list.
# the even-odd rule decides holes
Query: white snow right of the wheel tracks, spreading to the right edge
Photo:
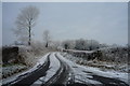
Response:
[{"label": "white snow right of the wheel tracks, spreading to the right edge", "polygon": [[122,73],[122,72],[117,72],[117,71],[101,71],[99,68],[93,68],[93,67],[88,67],[88,66],[86,66],[86,67],[79,66],[76,62],[73,62],[73,61],[64,58],[60,53],[57,53],[57,55],[58,55],[58,57],[61,57],[61,59],[63,59],[65,62],[67,62],[67,64],[69,64],[69,67],[73,69],[73,71],[76,75],[75,82],[101,84],[101,82],[89,80],[92,77],[92,74],[94,74],[94,75],[100,75],[100,76],[104,76],[104,77],[118,78],[118,80],[129,84],[128,73]]}]

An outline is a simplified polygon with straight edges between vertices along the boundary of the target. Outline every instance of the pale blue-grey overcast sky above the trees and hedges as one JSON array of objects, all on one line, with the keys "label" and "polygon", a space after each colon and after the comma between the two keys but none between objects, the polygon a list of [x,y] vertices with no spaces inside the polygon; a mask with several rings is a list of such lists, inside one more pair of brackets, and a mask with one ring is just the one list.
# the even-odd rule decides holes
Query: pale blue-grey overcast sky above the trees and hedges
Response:
[{"label": "pale blue-grey overcast sky above the trees and hedges", "polygon": [[34,39],[42,41],[43,30],[49,29],[53,40],[93,39],[100,43],[128,43],[128,3],[127,2],[3,2],[2,42],[13,43],[12,32],[21,9],[35,5],[40,14]]}]

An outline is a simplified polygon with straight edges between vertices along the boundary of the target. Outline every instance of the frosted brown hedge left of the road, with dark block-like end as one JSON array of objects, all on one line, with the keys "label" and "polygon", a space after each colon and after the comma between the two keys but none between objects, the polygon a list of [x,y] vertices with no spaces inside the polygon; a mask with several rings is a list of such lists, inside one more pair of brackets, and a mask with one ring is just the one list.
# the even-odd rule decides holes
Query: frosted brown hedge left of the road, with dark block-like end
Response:
[{"label": "frosted brown hedge left of the road, with dark block-like end", "polygon": [[49,53],[50,49],[44,48],[40,44],[31,44],[28,45],[11,45],[11,46],[3,46],[2,47],[2,62],[3,64],[11,64],[11,63],[23,63],[28,67],[32,67],[36,61],[37,57],[43,56],[44,54]]}]

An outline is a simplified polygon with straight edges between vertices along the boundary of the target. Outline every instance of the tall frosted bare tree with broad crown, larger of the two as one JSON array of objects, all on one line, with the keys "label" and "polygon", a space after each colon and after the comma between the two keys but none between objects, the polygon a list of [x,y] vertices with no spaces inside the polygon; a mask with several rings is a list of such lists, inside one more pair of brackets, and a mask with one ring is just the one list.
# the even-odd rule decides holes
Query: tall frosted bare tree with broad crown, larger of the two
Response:
[{"label": "tall frosted bare tree with broad crown, larger of the two", "polygon": [[20,40],[26,39],[26,41],[28,41],[28,45],[30,45],[31,42],[31,29],[36,25],[38,14],[39,10],[36,6],[29,5],[21,10],[21,14],[18,14],[15,22],[15,34]]}]

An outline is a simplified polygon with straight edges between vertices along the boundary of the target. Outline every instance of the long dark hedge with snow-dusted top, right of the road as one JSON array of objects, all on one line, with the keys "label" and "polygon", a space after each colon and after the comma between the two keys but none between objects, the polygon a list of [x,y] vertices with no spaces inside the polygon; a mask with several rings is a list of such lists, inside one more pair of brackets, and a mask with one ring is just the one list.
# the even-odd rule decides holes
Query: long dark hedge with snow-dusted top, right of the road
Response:
[{"label": "long dark hedge with snow-dusted top, right of the road", "polygon": [[106,47],[95,51],[74,51],[64,49],[64,52],[72,54],[78,58],[84,58],[87,60],[100,60],[112,62],[128,62],[128,47]]}]

